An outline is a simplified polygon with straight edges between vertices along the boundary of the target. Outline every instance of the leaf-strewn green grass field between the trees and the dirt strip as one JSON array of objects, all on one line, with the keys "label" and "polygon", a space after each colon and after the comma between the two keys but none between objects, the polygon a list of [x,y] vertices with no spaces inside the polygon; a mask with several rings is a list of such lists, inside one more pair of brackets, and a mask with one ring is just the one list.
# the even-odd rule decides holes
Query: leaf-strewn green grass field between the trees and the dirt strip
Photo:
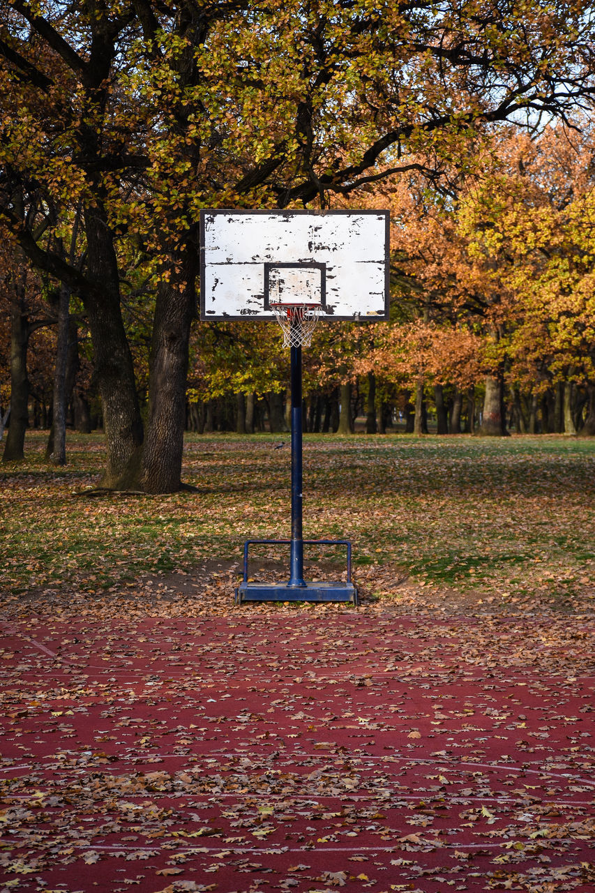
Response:
[{"label": "leaf-strewn green grass field between the trees and the dirt strip", "polygon": [[[183,477],[197,492],[166,497],[83,495],[103,438],[69,435],[64,469],[46,465],[45,444],[31,432],[25,463],[0,469],[0,566],[13,594],[100,593],[142,573],[239,561],[246,538],[289,536],[289,435],[189,435]],[[594,497],[588,439],[304,438],[304,536],[352,539],[368,597],[398,599],[406,580],[434,597],[583,605]],[[273,547],[258,557],[283,560]]]}]

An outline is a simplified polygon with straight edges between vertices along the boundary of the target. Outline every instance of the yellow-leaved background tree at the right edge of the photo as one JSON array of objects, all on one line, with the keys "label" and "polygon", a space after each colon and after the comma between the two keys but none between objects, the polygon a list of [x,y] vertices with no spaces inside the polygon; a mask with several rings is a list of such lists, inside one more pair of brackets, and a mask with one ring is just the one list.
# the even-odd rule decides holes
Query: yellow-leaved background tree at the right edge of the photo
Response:
[{"label": "yellow-leaved background tree at the right edge of the photo", "polygon": [[571,434],[574,388],[587,389],[591,407],[595,384],[592,153],[588,125],[549,128],[538,139],[509,134],[461,213],[469,255],[501,296],[509,376],[538,395],[559,383]]}]

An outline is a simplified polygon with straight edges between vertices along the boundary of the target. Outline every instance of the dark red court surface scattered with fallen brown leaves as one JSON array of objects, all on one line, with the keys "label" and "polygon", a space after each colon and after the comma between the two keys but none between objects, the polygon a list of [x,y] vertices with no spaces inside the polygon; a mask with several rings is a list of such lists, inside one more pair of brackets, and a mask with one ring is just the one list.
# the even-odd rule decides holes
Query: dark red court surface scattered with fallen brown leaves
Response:
[{"label": "dark red court surface scattered with fallen brown leaves", "polygon": [[0,889],[593,893],[594,626],[6,621]]}]

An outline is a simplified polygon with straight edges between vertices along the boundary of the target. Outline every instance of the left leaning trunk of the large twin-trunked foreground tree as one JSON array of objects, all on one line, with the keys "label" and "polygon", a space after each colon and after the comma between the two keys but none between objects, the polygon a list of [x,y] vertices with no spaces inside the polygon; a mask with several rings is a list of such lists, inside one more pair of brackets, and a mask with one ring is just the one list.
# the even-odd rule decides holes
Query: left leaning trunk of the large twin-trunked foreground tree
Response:
[{"label": "left leaning trunk of the large twin-trunked foreground tree", "polygon": [[88,279],[95,286],[83,295],[93,344],[107,445],[105,487],[138,486],[143,425],[134,366],[122,322],[118,265],[113,237],[100,205],[85,211]]}]

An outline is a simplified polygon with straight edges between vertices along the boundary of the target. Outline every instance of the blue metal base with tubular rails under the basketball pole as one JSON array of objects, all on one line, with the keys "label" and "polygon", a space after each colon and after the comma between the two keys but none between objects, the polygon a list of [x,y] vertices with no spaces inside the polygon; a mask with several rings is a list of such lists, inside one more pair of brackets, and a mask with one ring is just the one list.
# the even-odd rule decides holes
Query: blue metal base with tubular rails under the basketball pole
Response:
[{"label": "blue metal base with tubular rails under the basketball pole", "polygon": [[295,585],[287,583],[248,582],[248,549],[250,546],[287,545],[290,539],[248,539],[244,543],[244,579],[236,588],[235,605],[243,602],[351,602],[358,605],[357,589],[351,580],[351,543],[348,539],[304,539],[309,546],[345,546],[347,547],[347,580],[323,582],[306,582]]}]

